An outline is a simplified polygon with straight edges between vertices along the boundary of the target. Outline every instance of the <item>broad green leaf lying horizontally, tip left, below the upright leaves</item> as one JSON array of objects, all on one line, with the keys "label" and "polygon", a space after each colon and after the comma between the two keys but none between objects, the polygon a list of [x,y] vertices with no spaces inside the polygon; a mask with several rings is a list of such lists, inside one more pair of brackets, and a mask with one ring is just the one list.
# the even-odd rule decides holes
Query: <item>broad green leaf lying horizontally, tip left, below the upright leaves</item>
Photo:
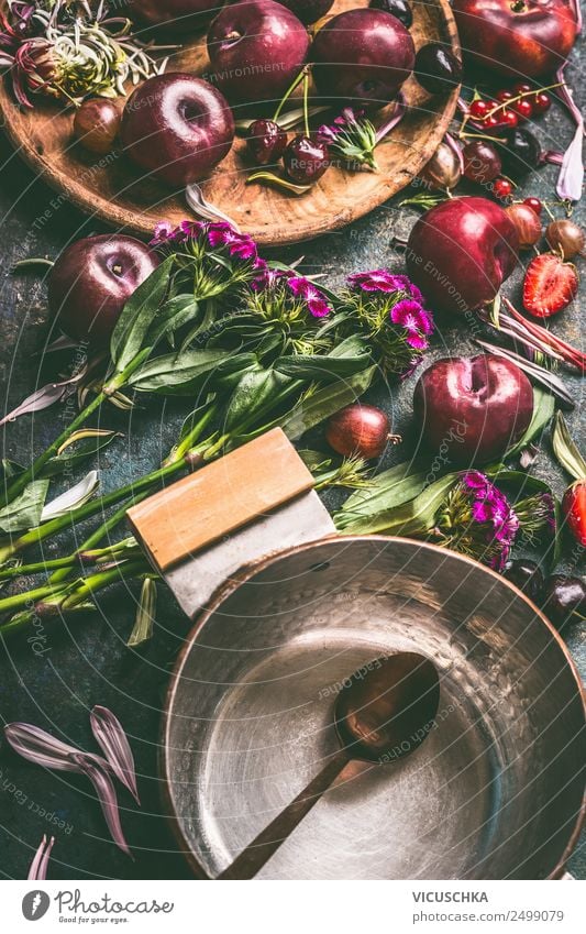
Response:
[{"label": "broad green leaf lying horizontally, tip left, below the upright leaves", "polygon": [[148,360],[136,370],[129,385],[140,393],[161,393],[162,395],[189,395],[194,388],[218,371],[221,363],[232,358],[231,365],[237,364],[237,355],[226,350],[186,350],[179,353],[166,353]]}]

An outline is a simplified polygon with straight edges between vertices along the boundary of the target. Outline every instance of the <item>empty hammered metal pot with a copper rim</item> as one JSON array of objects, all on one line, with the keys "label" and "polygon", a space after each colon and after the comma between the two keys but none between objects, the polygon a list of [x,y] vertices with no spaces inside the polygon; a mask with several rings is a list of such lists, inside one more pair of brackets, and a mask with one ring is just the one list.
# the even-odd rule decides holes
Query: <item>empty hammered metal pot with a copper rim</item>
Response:
[{"label": "empty hammered metal pot with a copper rim", "polygon": [[329,792],[261,878],[560,878],[586,774],[564,642],[498,574],[387,537],[265,558],[199,616],[168,690],[161,763],[196,876],[218,876],[319,770],[339,685],[394,650],[440,670],[435,729]]}]

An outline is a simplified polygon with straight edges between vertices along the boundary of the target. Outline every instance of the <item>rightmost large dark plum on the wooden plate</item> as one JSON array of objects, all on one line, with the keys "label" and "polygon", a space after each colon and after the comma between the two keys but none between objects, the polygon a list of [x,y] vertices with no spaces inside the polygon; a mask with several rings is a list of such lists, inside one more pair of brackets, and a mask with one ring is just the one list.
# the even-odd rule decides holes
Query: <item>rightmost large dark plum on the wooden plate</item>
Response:
[{"label": "rightmost large dark plum on the wooden plate", "polygon": [[349,10],[322,26],[311,47],[313,80],[322,98],[382,107],[413,70],[413,40],[383,10]]}]

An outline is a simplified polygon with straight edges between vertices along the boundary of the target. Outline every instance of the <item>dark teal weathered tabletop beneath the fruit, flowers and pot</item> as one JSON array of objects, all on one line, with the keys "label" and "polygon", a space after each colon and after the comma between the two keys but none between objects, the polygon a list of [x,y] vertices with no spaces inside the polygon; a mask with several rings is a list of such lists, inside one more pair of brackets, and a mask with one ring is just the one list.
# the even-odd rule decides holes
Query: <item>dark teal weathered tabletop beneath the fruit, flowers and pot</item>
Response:
[{"label": "dark teal weathered tabletop beneath the fruit, flowers and pot", "polygon": [[[568,72],[577,99],[584,102],[581,88],[579,51]],[[584,69],[582,69],[584,81]],[[537,130],[546,149],[567,144],[572,125],[561,108],[554,108]],[[11,264],[25,256],[54,257],[70,241],[99,226],[74,211],[64,198],[56,197],[43,179],[34,178],[0,135],[2,164],[0,215],[2,238],[0,380],[4,404],[10,409],[35,386],[54,375],[55,362],[42,361],[47,337],[45,287],[33,276],[14,278]],[[548,167],[523,184],[520,197],[537,195],[553,201],[555,169]],[[399,211],[400,198],[390,201],[362,222],[318,242],[290,250],[286,259],[303,253],[308,272],[324,273],[335,285],[351,272],[389,265],[399,271],[400,255],[392,252],[394,234],[405,235],[416,215]],[[562,212],[556,209],[557,216]],[[576,210],[579,220],[581,211]],[[586,219],[582,215],[583,220]],[[283,256],[283,254],[281,254]],[[584,262],[579,261],[581,272]],[[518,295],[520,272],[507,284],[507,294]],[[584,292],[584,289],[582,289]],[[576,344],[583,344],[581,300],[576,300],[554,323],[554,329]],[[474,345],[456,326],[441,325],[434,355],[445,351],[471,352]],[[66,361],[67,363],[67,361]],[[66,367],[67,369],[67,367]],[[586,447],[583,382],[564,373],[576,399],[570,424],[576,439]],[[405,443],[386,458],[385,465],[403,460],[414,449],[417,426],[411,420],[412,381],[392,395],[372,393],[373,402],[392,414],[397,431]],[[140,399],[132,414],[104,410],[102,427],[118,428],[124,438],[101,457],[103,488],[119,486],[132,476],[154,469],[174,442],[186,404],[165,404]],[[60,430],[59,409],[34,419],[25,417],[4,429],[2,457],[27,462],[31,451],[38,451]],[[544,439],[534,472],[549,480],[562,493],[566,479],[551,458],[549,438]],[[69,541],[69,546],[71,542]],[[68,551],[71,548],[68,548]],[[49,558],[55,547],[46,548]],[[567,549],[570,553],[571,546]],[[565,569],[584,573],[584,554],[574,552]],[[142,653],[131,652],[125,641],[132,628],[137,589],[118,586],[99,602],[99,612],[76,616],[70,622],[52,624],[41,635],[43,655],[36,655],[26,636],[0,645],[0,719],[27,721],[51,729],[63,739],[93,749],[88,712],[96,703],[119,714],[131,737],[135,752],[143,807],[139,811],[130,795],[121,793],[122,822],[135,855],[129,860],[109,840],[100,810],[88,794],[81,779],[63,773],[45,773],[19,759],[4,747],[0,750],[0,872],[7,878],[25,878],[27,866],[43,834],[56,832],[57,844],[51,862],[52,878],[183,878],[186,869],[167,832],[161,813],[156,771],[157,735],[163,692],[173,659],[187,631],[187,623],[168,592],[159,587],[157,631]],[[586,671],[584,630],[573,626],[567,633],[571,650]],[[65,829],[55,831],[55,820],[65,821]],[[570,868],[586,878],[586,840],[583,837]]]}]

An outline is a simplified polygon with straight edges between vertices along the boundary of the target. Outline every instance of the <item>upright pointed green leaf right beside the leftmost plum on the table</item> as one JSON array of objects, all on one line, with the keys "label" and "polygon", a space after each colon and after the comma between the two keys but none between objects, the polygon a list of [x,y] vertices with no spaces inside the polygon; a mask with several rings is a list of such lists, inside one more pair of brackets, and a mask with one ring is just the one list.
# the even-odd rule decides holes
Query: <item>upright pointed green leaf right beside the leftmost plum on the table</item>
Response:
[{"label": "upright pointed green leaf right beside the leftmost plum on the table", "polygon": [[117,373],[134,360],[165,298],[175,256],[167,256],[131,295],[117,321],[110,354]]}]

